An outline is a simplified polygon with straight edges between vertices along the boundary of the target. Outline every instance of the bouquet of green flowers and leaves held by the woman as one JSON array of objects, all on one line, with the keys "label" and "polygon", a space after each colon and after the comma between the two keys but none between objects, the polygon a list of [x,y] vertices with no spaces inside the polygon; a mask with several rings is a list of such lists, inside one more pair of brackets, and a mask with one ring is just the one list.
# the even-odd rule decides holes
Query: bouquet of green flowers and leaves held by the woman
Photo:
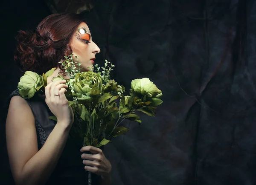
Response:
[{"label": "bouquet of green flowers and leaves held by the woman", "polygon": [[[77,58],[76,58],[77,59]],[[111,79],[113,64],[105,60],[105,66],[91,67],[88,72],[80,72],[81,64],[73,60],[73,55],[60,61],[67,75],[67,93],[69,106],[72,107],[75,121],[70,134],[83,146],[101,147],[111,139],[125,134],[128,128],[120,126],[124,119],[141,123],[137,111],[155,116],[156,106],[163,103],[162,92],[148,78],[131,81],[129,95],[124,95],[125,87]],[[23,98],[32,98],[35,93],[44,94],[47,77],[52,68],[43,75],[27,71],[20,78],[18,91]],[[95,71],[95,72],[94,72]],[[62,76],[52,81],[64,80]],[[55,116],[50,119],[56,120]]]}]

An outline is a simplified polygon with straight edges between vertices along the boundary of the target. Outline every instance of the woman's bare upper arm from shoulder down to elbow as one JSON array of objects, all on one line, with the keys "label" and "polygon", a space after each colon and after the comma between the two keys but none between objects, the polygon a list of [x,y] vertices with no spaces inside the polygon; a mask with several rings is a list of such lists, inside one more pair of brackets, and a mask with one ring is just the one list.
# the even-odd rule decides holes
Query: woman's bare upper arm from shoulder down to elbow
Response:
[{"label": "woman's bare upper arm from shoulder down to elbow", "polygon": [[26,162],[38,152],[35,117],[20,96],[11,98],[6,119],[6,144],[12,174],[17,179]]}]

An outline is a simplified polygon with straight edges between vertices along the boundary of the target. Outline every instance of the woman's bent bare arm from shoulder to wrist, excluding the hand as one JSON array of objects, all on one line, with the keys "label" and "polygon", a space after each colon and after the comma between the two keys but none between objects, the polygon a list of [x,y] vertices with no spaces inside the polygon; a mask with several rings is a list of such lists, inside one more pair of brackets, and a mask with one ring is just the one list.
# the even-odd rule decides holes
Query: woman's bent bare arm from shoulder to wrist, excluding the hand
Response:
[{"label": "woman's bent bare arm from shoulder to wrist, excluding the hand", "polygon": [[11,99],[6,120],[6,142],[17,185],[40,185],[47,181],[61,156],[69,130],[70,127],[57,123],[38,151],[35,118],[29,105],[19,96]]}]

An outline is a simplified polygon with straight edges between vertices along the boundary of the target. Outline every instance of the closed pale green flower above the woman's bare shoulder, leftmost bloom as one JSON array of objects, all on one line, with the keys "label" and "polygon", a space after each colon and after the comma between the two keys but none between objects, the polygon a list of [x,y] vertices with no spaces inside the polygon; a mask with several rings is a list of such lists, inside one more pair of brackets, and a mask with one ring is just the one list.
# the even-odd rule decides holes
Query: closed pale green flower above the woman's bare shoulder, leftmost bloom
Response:
[{"label": "closed pale green flower above the woman's bare shoulder, leftmost bloom", "polygon": [[18,92],[23,98],[32,98],[42,86],[42,76],[32,71],[26,71],[18,83]]}]

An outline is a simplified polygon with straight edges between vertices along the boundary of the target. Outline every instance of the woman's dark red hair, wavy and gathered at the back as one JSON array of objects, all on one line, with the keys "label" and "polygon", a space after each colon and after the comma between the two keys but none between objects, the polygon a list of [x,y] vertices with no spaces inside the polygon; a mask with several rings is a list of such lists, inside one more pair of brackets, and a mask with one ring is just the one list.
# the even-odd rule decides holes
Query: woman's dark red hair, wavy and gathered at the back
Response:
[{"label": "woman's dark red hair, wavy and gathered at the back", "polygon": [[18,31],[14,59],[22,72],[41,75],[59,66],[61,59],[72,54],[70,40],[81,22],[79,14],[51,14],[42,20],[35,32]]}]

